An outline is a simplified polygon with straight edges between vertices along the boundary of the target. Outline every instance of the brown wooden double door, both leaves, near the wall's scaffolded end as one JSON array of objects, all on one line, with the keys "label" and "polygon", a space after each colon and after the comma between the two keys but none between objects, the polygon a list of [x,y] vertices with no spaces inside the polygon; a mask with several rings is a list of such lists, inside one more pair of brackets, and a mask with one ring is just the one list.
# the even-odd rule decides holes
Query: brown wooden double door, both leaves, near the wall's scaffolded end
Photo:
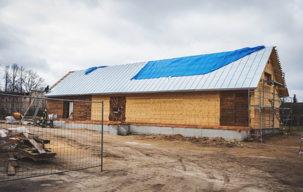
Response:
[{"label": "brown wooden double door, both leaves, near the wall's scaffolded end", "polygon": [[220,125],[248,126],[248,93],[220,93]]}]

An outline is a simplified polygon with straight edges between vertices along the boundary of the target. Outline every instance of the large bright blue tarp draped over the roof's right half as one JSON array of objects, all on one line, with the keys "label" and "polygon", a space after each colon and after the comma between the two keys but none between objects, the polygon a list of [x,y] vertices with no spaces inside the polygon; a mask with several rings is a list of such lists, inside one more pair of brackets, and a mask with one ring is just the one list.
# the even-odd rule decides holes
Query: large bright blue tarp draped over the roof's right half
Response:
[{"label": "large bright blue tarp draped over the roof's right half", "polygon": [[235,51],[149,61],[132,79],[203,75],[264,48],[245,47]]}]

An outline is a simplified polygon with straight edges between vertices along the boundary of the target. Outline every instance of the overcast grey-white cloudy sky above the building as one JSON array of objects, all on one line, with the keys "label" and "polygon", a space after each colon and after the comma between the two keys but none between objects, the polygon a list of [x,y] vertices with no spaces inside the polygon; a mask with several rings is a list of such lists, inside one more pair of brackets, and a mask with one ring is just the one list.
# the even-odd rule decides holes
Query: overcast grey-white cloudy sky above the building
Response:
[{"label": "overcast grey-white cloudy sky above the building", "polygon": [[0,0],[0,64],[34,69],[51,86],[92,66],[277,46],[302,101],[302,10],[301,0]]}]

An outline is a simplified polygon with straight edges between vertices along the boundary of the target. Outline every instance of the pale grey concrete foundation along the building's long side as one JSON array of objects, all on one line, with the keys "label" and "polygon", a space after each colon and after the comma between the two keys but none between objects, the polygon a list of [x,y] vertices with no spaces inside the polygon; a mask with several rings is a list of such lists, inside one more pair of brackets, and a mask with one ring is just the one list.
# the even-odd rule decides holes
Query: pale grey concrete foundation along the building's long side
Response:
[{"label": "pale grey concrete foundation along the building's long side", "polygon": [[[100,124],[89,123],[65,123],[65,121],[54,121],[54,125],[60,128],[88,129],[101,131]],[[103,133],[112,135],[147,134],[147,135],[172,135],[181,134],[185,137],[219,137],[227,140],[243,141],[249,138],[249,131],[199,129],[186,127],[160,127],[143,125],[103,125]]]}]

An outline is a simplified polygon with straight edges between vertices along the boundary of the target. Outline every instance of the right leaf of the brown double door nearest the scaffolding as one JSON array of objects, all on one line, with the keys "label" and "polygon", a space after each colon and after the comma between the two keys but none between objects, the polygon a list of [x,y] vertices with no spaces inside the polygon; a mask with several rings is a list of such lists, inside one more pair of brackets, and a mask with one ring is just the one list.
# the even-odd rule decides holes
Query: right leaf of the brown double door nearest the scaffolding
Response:
[{"label": "right leaf of the brown double door nearest the scaffolding", "polygon": [[248,93],[235,93],[235,126],[248,127]]}]

